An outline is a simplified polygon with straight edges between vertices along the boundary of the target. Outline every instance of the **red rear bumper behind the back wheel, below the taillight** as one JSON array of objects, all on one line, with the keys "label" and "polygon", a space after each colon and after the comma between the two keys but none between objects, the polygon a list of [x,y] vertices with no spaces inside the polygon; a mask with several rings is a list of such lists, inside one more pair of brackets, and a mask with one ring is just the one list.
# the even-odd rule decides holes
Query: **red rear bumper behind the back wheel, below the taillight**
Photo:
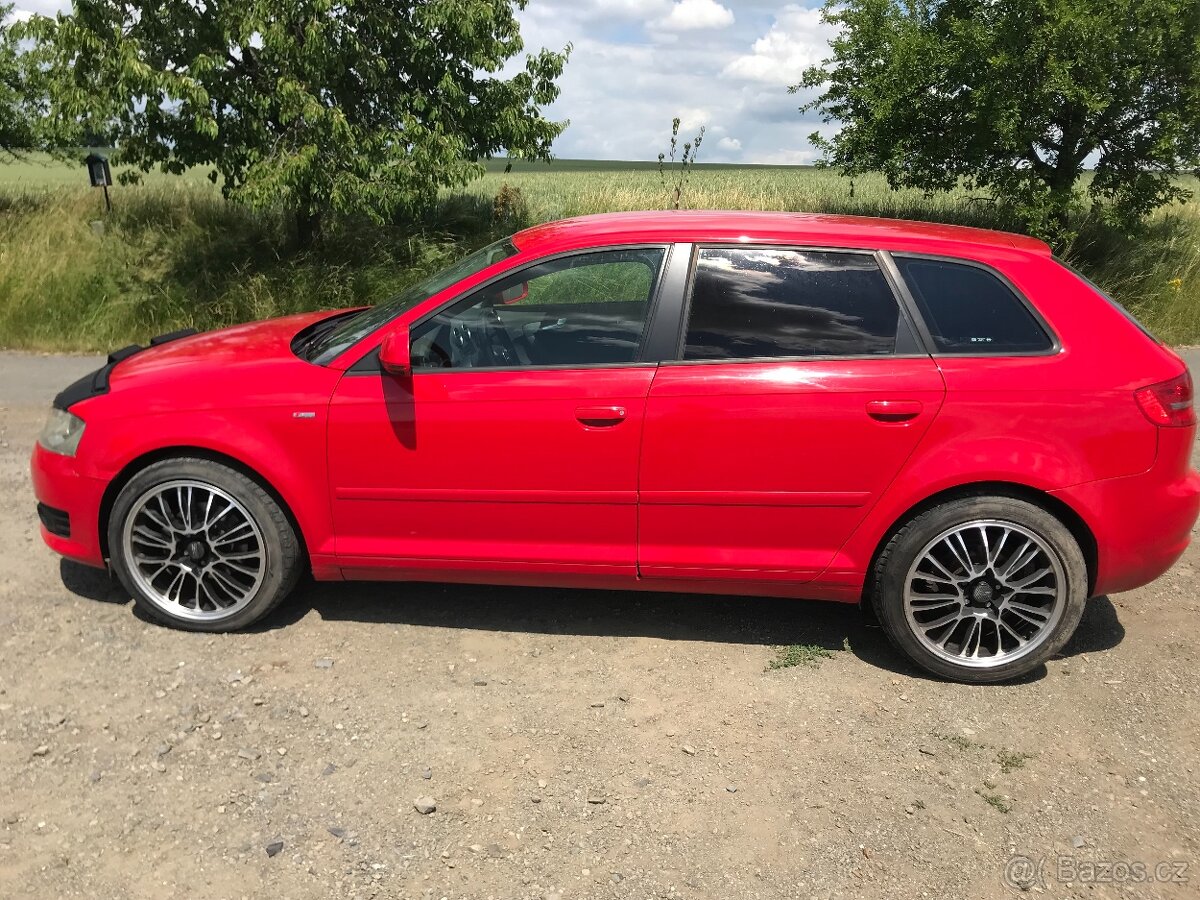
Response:
[{"label": "red rear bumper behind the back wheel, below the taillight", "polygon": [[[1164,472],[1171,468],[1175,474]],[[1158,464],[1140,475],[1051,492],[1079,512],[1096,536],[1092,594],[1148,584],[1187,550],[1200,515],[1200,474],[1190,468],[1178,474],[1181,468]]]}]

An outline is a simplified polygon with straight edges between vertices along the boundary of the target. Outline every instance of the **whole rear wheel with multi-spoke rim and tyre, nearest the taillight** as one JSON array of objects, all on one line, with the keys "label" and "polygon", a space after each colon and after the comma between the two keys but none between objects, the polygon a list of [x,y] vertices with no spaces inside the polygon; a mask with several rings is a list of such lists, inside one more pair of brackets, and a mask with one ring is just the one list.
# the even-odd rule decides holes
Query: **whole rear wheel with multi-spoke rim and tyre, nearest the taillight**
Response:
[{"label": "whole rear wheel with multi-spoke rim and tyre, nearest the taillight", "polygon": [[1087,601],[1087,565],[1070,530],[1040,506],[967,497],[896,529],[870,598],[888,638],[918,666],[992,684],[1028,674],[1067,643]]}]

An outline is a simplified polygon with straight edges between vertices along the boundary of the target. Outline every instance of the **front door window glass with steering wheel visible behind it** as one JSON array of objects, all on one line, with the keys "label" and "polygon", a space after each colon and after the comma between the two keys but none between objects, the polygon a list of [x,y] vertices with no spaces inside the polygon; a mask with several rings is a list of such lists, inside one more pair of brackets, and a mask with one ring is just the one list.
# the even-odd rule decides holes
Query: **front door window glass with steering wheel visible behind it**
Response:
[{"label": "front door window glass with steering wheel visible behind it", "polygon": [[413,366],[632,362],[665,252],[600,251],[522,269],[413,329]]}]

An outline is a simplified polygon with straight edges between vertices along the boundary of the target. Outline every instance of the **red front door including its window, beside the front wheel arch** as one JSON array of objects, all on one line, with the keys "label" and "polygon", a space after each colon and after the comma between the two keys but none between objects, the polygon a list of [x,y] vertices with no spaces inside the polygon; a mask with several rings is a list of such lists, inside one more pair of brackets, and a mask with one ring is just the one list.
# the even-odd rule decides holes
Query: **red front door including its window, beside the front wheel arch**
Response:
[{"label": "red front door including its window, beside the front wheel arch", "polygon": [[413,323],[412,376],[348,373],[329,426],[343,569],[632,578],[666,254],[535,263]]}]

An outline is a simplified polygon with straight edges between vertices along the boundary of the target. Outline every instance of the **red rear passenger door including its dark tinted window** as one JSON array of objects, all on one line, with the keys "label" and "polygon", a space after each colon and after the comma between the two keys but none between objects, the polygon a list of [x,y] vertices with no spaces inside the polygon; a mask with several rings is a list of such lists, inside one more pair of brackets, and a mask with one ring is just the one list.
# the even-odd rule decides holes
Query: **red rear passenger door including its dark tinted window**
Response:
[{"label": "red rear passenger door including its dark tinted window", "polygon": [[874,253],[700,247],[646,409],[640,571],[805,582],[944,395]]}]

